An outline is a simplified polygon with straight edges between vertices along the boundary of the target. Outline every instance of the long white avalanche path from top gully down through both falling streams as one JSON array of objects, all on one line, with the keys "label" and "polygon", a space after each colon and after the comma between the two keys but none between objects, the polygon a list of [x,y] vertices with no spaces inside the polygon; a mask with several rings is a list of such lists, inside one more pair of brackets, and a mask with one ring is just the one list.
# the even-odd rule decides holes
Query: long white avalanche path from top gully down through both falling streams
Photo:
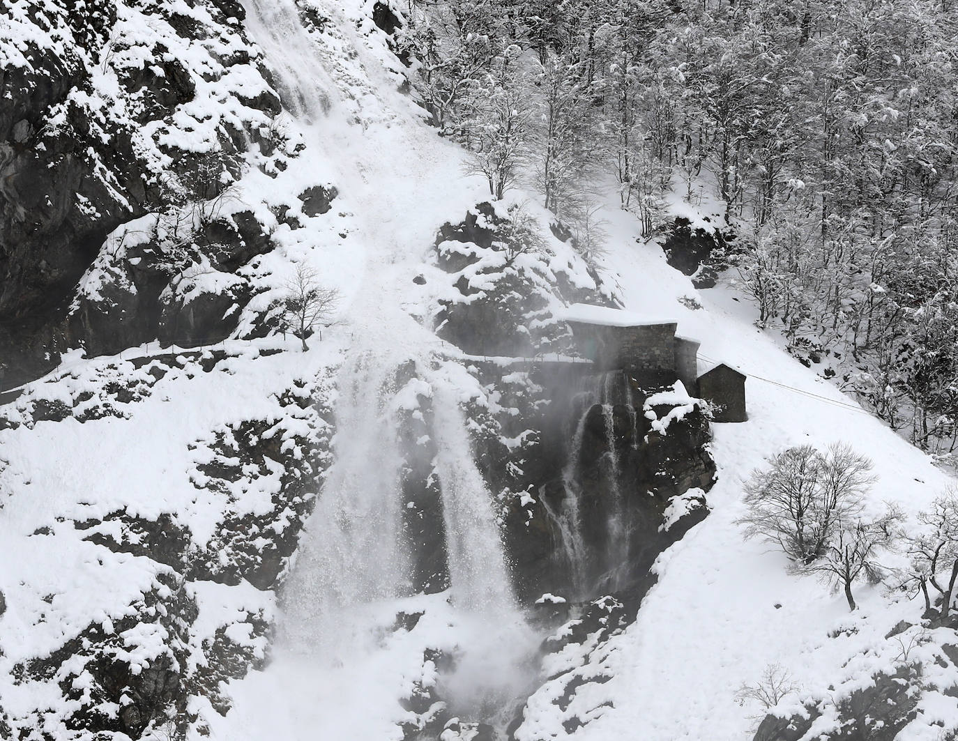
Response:
[{"label": "long white avalanche path from top gully down through both falling streams", "polygon": [[[414,318],[422,313],[409,288],[438,226],[461,218],[481,199],[483,184],[464,179],[461,152],[422,126],[420,111],[395,92],[399,78],[351,34],[346,11],[323,9],[349,56],[358,55],[359,64],[344,70],[336,58],[342,50],[323,49],[304,32],[292,0],[255,0],[246,8],[249,33],[303,129],[307,148],[298,167],[332,165],[335,206],[355,216],[347,243],[353,281],[343,286],[343,319],[331,330],[351,348],[338,374],[334,460],[281,596],[274,661],[235,687],[235,711],[214,732],[394,738],[405,714],[398,698],[422,679],[409,674],[422,671],[422,637],[464,652],[445,689],[464,712],[482,710],[477,703],[504,687],[508,700],[513,663],[535,645],[513,606],[490,496],[472,463],[455,393],[433,397],[437,432],[443,430],[437,468],[451,594],[405,596],[411,554],[399,532],[398,422],[390,412],[398,389],[390,384],[402,363],[426,368],[434,353],[448,351]],[[369,79],[356,79],[357,69]],[[330,272],[321,258],[315,266]],[[424,611],[419,630],[383,639],[402,610]]]}]

